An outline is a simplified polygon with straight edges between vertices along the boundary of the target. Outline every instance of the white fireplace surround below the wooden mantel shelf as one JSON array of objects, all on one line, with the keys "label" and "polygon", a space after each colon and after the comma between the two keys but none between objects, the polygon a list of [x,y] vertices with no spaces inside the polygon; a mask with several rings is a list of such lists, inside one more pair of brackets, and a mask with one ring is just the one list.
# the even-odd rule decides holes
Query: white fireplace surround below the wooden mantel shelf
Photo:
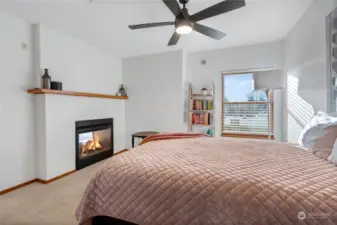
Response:
[{"label": "white fireplace surround below the wooden mantel shelf", "polygon": [[124,149],[124,101],[36,95],[37,178],[50,180],[75,170],[75,121],[114,118],[115,152]]}]

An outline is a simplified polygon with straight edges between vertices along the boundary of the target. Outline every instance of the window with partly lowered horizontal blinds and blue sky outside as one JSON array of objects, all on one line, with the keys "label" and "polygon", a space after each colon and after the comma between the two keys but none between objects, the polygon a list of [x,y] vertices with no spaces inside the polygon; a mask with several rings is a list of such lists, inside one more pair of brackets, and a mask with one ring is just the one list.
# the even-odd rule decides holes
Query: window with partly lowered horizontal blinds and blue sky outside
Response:
[{"label": "window with partly lowered horizontal blinds and blue sky outside", "polygon": [[272,94],[255,90],[253,73],[223,75],[223,93],[223,136],[273,136]]}]

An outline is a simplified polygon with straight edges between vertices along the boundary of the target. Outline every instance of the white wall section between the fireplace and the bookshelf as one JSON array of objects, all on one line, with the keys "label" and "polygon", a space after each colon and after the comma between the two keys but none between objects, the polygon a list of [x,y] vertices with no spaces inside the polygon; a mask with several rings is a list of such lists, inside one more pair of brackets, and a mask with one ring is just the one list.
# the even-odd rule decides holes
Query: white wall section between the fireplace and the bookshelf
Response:
[{"label": "white wall section between the fireplace and the bookshelf", "polygon": [[126,102],[126,145],[134,132],[186,131],[184,127],[184,53],[174,51],[123,60]]}]

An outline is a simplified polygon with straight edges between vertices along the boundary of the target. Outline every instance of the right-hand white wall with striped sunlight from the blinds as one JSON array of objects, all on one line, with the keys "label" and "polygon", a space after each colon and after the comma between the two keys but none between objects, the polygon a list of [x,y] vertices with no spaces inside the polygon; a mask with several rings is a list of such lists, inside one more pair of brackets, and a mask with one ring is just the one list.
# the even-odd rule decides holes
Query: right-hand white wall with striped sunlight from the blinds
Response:
[{"label": "right-hand white wall with striped sunlight from the blinds", "polygon": [[315,111],[327,111],[326,16],[337,6],[335,0],[315,1],[283,42],[284,72],[287,76],[289,142],[296,142],[300,131]]}]

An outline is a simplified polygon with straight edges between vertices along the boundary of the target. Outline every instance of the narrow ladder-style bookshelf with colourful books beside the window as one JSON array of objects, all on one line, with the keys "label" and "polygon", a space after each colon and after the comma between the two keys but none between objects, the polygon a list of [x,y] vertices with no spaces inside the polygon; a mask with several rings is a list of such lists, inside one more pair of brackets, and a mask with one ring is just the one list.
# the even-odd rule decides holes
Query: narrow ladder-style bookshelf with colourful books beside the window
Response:
[{"label": "narrow ladder-style bookshelf with colourful books beside the window", "polygon": [[211,130],[211,136],[215,132],[215,85],[212,83],[212,94],[203,95],[193,92],[193,86],[189,84],[188,104],[188,131],[203,132]]}]

